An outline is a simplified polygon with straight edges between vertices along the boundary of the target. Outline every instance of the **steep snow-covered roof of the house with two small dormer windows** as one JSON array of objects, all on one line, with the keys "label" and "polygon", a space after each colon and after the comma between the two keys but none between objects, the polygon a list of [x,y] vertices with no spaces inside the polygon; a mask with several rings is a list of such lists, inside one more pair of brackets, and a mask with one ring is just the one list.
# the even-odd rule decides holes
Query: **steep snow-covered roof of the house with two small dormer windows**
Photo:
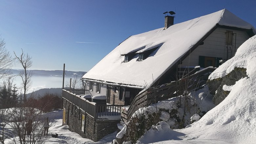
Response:
[{"label": "steep snow-covered roof of the house with two small dormer windows", "polygon": [[[126,84],[128,87],[151,86],[216,24],[253,29],[255,33],[252,25],[223,9],[172,25],[166,30],[159,28],[133,35],[118,45],[82,78]],[[156,47],[158,48],[148,58],[137,61],[139,53]],[[134,53],[135,56],[129,62],[124,62],[124,55],[130,53]]]}]

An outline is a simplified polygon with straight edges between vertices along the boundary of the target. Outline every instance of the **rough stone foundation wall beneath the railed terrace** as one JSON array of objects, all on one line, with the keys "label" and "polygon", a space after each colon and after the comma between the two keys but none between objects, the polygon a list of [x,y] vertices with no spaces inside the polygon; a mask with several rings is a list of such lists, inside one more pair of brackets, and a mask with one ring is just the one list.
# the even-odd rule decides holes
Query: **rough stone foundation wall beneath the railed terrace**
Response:
[{"label": "rough stone foundation wall beneath the railed terrace", "polygon": [[[66,107],[65,102],[67,102]],[[120,123],[120,120],[95,121],[94,117],[87,115],[65,99],[63,100],[63,107],[64,111],[66,111],[65,116],[63,115],[63,119],[65,119],[65,123],[63,122],[63,125],[68,125],[71,132],[75,132],[83,138],[89,138],[96,142],[118,129],[117,123]],[[85,116],[84,132],[82,131],[82,115]]]}]

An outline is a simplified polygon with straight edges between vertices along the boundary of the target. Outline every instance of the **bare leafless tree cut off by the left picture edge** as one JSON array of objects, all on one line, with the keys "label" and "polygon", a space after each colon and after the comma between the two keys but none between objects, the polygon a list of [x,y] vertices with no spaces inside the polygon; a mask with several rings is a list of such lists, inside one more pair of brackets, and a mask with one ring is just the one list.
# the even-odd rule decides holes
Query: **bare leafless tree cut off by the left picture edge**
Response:
[{"label": "bare leafless tree cut off by the left picture edge", "polygon": [[10,53],[5,49],[5,41],[0,37],[0,79],[11,75],[11,63]]}]

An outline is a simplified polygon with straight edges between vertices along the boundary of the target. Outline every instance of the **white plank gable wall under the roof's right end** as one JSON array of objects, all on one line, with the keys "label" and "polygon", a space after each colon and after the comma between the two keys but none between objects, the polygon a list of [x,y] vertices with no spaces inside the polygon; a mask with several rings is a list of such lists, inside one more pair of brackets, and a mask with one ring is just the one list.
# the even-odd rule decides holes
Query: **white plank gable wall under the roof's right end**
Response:
[{"label": "white plank gable wall under the roof's right end", "polygon": [[[223,62],[227,59],[226,49],[226,30],[237,33],[236,35],[236,50],[242,45],[249,36],[245,31],[217,28],[213,33],[210,34],[203,42],[203,45],[199,45],[185,60],[182,61],[181,67],[183,66],[197,66],[199,65],[199,56],[206,57],[218,57],[223,58]],[[233,35],[233,45],[229,45],[232,48],[232,57],[235,51],[235,34]]]}]

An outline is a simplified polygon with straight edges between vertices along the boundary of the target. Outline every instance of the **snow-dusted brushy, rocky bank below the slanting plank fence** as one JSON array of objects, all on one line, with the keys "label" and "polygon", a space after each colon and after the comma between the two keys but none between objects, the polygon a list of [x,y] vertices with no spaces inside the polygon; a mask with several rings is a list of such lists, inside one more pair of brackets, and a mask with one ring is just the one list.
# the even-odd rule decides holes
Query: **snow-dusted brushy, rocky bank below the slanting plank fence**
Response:
[{"label": "snow-dusted brushy, rocky bank below the slanting plank fence", "polygon": [[149,131],[157,129],[157,123],[165,123],[171,129],[182,129],[198,121],[215,105],[208,86],[175,98],[159,101],[139,108],[127,123],[126,137],[132,143]]}]

